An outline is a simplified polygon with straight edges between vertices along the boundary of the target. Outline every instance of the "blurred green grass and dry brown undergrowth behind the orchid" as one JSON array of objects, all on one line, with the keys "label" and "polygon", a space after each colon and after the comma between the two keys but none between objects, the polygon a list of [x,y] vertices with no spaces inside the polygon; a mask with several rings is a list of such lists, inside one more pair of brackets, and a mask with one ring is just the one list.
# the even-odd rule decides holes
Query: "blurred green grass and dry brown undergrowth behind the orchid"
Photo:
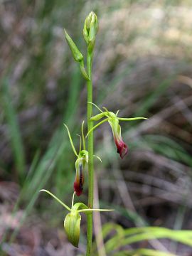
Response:
[{"label": "blurred green grass and dry brown undergrowth behind the orchid", "polygon": [[[192,228],[191,7],[189,0],[0,1],[1,255],[85,254],[85,218],[75,250],[63,231],[67,212],[38,191],[46,188],[70,205],[75,156],[63,122],[78,146],[86,87],[63,28],[86,54],[82,27],[91,10],[100,22],[94,102],[122,117],[149,118],[122,122],[129,146],[123,161],[110,127],[95,132],[95,153],[102,158],[102,164],[95,160],[95,207],[115,211],[94,215],[92,255],[96,247],[100,255],[191,255],[188,233],[181,233],[183,240],[168,240],[169,234],[121,245],[127,228]],[[85,179],[80,200],[86,203]],[[109,240],[114,233],[116,247]],[[146,251],[127,252],[142,247]]]}]

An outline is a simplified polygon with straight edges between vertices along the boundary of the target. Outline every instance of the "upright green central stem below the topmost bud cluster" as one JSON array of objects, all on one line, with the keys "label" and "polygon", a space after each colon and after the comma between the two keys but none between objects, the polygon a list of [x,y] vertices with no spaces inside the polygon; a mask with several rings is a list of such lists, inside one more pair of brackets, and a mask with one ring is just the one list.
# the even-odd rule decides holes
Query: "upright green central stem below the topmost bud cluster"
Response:
[{"label": "upright green central stem below the topmost bud cluster", "polygon": [[[87,73],[90,80],[87,81],[87,102],[92,102],[92,52],[87,50]],[[93,122],[90,120],[92,117],[92,104],[87,103],[87,131],[93,127]],[[89,185],[88,185],[88,207],[93,207],[93,132],[90,132],[88,137],[88,172],[89,172]],[[92,212],[87,215],[87,256],[91,255],[92,250]]]}]

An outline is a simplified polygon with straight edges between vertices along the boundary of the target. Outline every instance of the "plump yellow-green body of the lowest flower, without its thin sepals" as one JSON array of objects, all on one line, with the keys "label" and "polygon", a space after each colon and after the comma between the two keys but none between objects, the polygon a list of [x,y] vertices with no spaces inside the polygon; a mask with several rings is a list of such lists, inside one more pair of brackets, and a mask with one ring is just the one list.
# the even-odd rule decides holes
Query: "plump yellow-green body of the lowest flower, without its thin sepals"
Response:
[{"label": "plump yellow-green body of the lowest flower, without its thin sepals", "polygon": [[75,247],[78,247],[80,240],[80,220],[80,213],[78,213],[78,210],[73,209],[66,215],[64,220],[65,233],[67,234],[68,240]]}]

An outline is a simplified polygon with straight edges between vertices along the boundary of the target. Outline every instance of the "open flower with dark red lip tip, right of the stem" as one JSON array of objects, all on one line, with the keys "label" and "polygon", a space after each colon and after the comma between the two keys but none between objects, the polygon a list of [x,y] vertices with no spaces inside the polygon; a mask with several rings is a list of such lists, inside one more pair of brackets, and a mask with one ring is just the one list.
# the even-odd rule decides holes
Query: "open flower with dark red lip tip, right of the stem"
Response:
[{"label": "open flower with dark red lip tip, right of the stem", "polygon": [[[92,105],[95,105],[94,103],[89,102]],[[95,105],[97,107],[97,105]],[[101,122],[95,125],[95,127],[92,127],[90,132],[100,126],[100,124],[103,124],[104,122],[109,122],[110,127],[112,128],[112,134],[114,137],[114,143],[117,146],[117,153],[119,153],[121,159],[124,158],[124,156],[128,152],[128,146],[127,144],[124,143],[122,139],[122,134],[121,134],[121,127],[119,125],[119,121],[133,121],[137,119],[147,119],[145,117],[132,117],[132,118],[122,118],[122,117],[117,117],[117,114],[119,113],[119,110],[117,111],[116,114],[114,112],[108,111],[106,107],[103,107],[105,112],[103,112],[99,107],[97,109],[100,111],[100,114],[96,114],[94,117],[91,117],[92,121],[99,121],[103,117],[107,117],[103,119]],[[89,134],[89,133],[88,133]],[[87,135],[88,135],[87,134]]]}]

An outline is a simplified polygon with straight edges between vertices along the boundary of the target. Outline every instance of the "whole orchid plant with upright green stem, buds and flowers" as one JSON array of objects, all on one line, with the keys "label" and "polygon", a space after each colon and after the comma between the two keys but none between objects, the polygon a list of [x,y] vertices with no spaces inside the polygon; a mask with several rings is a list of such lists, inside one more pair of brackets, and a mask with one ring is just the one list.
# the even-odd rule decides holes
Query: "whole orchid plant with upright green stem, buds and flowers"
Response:
[{"label": "whole orchid plant with upright green stem, buds and flowers", "polygon": [[[65,216],[64,220],[64,228],[65,233],[68,237],[68,240],[75,246],[78,247],[79,238],[80,238],[80,213],[85,213],[87,215],[87,252],[86,255],[90,256],[92,251],[92,212],[93,211],[110,211],[110,209],[94,209],[93,206],[93,187],[94,187],[94,166],[93,166],[93,131],[99,127],[104,122],[108,122],[110,127],[112,128],[112,134],[114,137],[114,143],[117,146],[117,153],[120,155],[121,159],[128,152],[128,146],[124,143],[121,135],[121,127],[119,125],[119,121],[133,121],[137,119],[146,119],[144,117],[133,117],[133,118],[123,118],[118,117],[119,110],[114,113],[107,110],[106,107],[97,107],[92,102],[92,59],[93,59],[93,52],[95,47],[95,38],[98,31],[98,21],[96,14],[91,11],[90,14],[85,18],[85,24],[83,28],[83,36],[85,42],[87,43],[87,69],[85,68],[84,58],[78,47],[75,45],[74,41],[68,33],[65,31],[65,39],[70,47],[71,53],[73,55],[74,60],[79,63],[80,71],[82,73],[82,77],[85,78],[87,81],[87,134],[84,135],[84,121],[82,122],[81,126],[81,136],[80,137],[80,147],[79,152],[76,151],[75,146],[73,144],[73,139],[70,135],[70,131],[66,124],[65,128],[68,132],[68,137],[70,139],[70,144],[72,146],[73,152],[77,157],[75,161],[75,182],[74,186],[74,193],[71,208],[65,205],[60,199],[47,191],[42,189],[48,193],[50,196],[55,198],[58,203],[60,203],[63,207],[70,211],[68,215]],[[99,110],[99,114],[92,116],[92,106],[97,107]],[[100,121],[100,122],[98,122]],[[97,124],[94,125],[94,122]],[[87,141],[86,141],[87,140]],[[87,143],[86,143],[87,142]],[[87,149],[86,149],[87,144]],[[96,156],[97,159],[100,159],[99,156]],[[85,166],[88,166],[88,203],[87,206],[84,203],[73,203],[74,196],[80,196],[83,191],[83,183],[85,180]]]}]

